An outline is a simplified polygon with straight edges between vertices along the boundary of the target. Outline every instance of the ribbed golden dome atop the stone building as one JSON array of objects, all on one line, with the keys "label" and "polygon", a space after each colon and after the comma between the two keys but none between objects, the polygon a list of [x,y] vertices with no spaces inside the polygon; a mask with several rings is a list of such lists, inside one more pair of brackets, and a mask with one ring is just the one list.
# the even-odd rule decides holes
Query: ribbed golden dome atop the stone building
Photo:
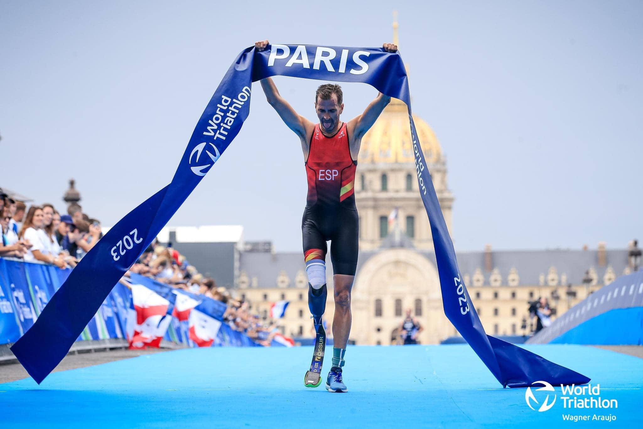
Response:
[{"label": "ribbed golden dome atop the stone building", "polygon": [[[417,136],[428,163],[442,156],[440,142],[433,130],[418,116],[413,115]],[[414,163],[406,104],[392,98],[377,121],[362,138],[358,163]]]}]

